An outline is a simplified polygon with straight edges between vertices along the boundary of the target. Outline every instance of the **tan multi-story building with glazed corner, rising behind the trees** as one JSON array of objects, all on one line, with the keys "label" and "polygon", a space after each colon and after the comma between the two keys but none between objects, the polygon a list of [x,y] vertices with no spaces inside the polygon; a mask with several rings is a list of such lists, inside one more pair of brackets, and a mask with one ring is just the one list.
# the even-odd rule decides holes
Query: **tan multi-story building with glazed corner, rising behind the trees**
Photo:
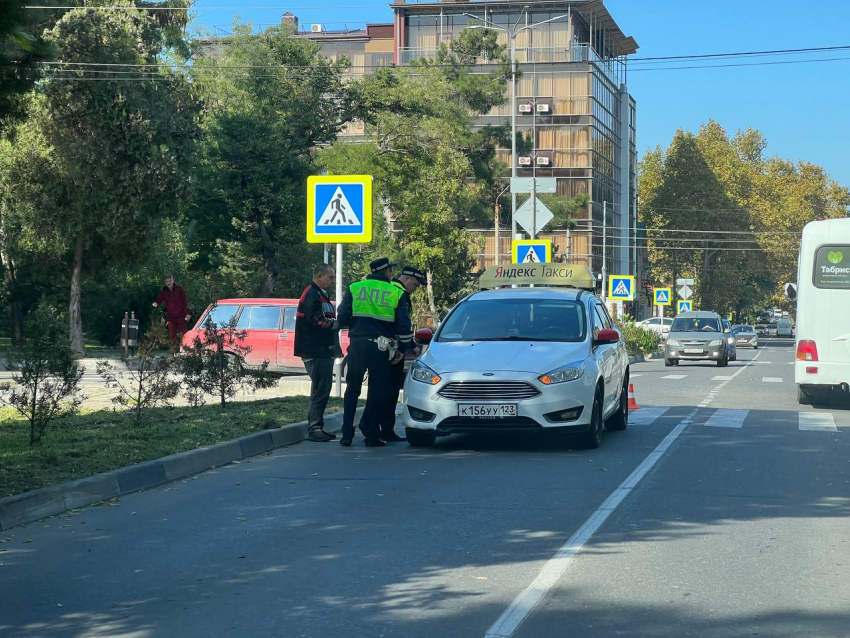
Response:
[{"label": "tan multi-story building with glazed corner, rising behind the trees", "polygon": [[[380,66],[406,65],[432,57],[471,25],[491,25],[499,42],[515,47],[521,71],[517,79],[517,129],[533,139],[540,161],[517,166],[519,177],[553,177],[557,194],[589,198],[577,228],[545,229],[556,258],[586,263],[595,272],[635,273],[636,148],[635,100],[626,83],[627,56],[638,45],[612,18],[603,0],[396,0],[394,21],[364,29],[328,31],[321,24],[301,25],[302,37],[322,45],[328,57],[346,56],[352,75]],[[286,14],[284,22],[298,25]],[[522,27],[534,28],[522,29]],[[515,30],[521,29],[518,32]],[[498,29],[497,29],[498,30]],[[220,46],[208,44],[208,47]],[[478,70],[492,69],[479,60]],[[524,108],[521,105],[533,105]],[[541,108],[536,108],[537,105]],[[479,126],[503,124],[511,117],[507,101],[481,117]],[[530,112],[529,112],[530,111]],[[362,128],[348,133],[362,135]],[[510,149],[500,151],[510,166]],[[510,259],[511,228],[501,229],[499,259]],[[484,267],[494,263],[494,229],[481,229]]]}]

